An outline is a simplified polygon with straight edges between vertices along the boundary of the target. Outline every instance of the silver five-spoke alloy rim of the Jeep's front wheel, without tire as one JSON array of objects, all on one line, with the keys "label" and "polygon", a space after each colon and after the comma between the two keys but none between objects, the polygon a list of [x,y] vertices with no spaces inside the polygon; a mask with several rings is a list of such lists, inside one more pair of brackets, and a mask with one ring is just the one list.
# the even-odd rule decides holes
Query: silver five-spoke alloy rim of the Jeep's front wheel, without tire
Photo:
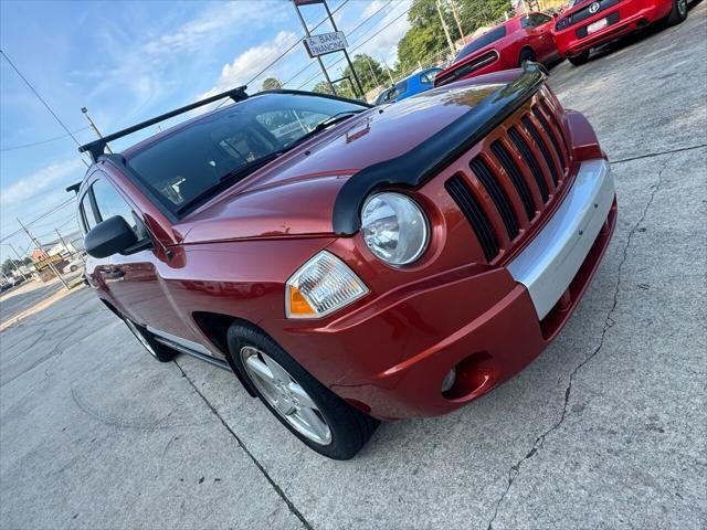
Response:
[{"label": "silver five-spoke alloy rim of the Jeep's front wheel, without tire", "polygon": [[263,399],[295,431],[319,445],[331,443],[331,430],[317,403],[287,370],[252,346],[241,348],[241,361]]}]

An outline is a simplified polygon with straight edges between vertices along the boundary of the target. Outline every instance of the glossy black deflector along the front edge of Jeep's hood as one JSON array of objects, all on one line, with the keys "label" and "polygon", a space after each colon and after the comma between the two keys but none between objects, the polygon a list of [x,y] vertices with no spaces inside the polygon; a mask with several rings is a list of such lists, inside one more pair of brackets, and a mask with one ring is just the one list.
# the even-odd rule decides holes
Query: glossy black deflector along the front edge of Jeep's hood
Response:
[{"label": "glossy black deflector along the front edge of Jeep's hood", "polygon": [[547,70],[526,62],[523,73],[482,103],[408,152],[354,174],[334,204],[334,232],[354,235],[361,227],[366,199],[389,186],[419,188],[495,129],[540,89]]}]

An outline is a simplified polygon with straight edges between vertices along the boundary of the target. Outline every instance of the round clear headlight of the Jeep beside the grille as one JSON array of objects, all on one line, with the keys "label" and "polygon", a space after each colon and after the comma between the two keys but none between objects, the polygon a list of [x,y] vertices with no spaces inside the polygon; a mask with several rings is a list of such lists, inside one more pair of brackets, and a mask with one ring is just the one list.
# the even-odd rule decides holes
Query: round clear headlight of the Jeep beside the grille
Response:
[{"label": "round clear headlight of the Jeep beside the grille", "polygon": [[428,247],[428,220],[402,193],[372,195],[361,210],[361,233],[371,252],[390,265],[407,265]]}]

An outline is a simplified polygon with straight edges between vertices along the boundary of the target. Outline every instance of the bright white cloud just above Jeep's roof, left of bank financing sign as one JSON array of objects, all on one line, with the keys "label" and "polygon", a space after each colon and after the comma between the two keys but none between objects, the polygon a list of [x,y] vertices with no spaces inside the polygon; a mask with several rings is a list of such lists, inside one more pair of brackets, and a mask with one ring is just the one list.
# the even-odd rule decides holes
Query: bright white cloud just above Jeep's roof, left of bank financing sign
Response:
[{"label": "bright white cloud just above Jeep's roof, left of bank financing sign", "polygon": [[[223,65],[221,76],[215,85],[205,94],[201,94],[199,99],[219,94],[235,86],[244,85],[252,77],[258,74],[263,67],[270,64],[277,55],[289,47],[298,36],[289,31],[281,31],[274,40],[249,47],[245,52],[236,56],[232,63]],[[273,75],[266,72],[266,75]],[[251,92],[260,89],[258,86],[251,87]]]}]

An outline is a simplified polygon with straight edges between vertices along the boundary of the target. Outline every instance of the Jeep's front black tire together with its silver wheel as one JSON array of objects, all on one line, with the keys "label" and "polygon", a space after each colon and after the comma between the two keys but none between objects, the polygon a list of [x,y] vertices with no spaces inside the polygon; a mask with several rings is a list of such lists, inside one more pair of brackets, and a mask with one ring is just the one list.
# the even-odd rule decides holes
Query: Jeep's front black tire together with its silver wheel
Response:
[{"label": "Jeep's front black tire together with its silver wheel", "polygon": [[[324,386],[256,328],[232,325],[228,340],[234,365],[255,394],[289,432],[320,455],[348,460],[361,451],[378,427],[378,420]],[[260,365],[270,371],[270,378],[255,375],[258,370],[265,373]],[[289,381],[285,381],[286,377]],[[277,381],[285,384],[276,389]],[[312,418],[309,423],[314,427],[303,418]]]}]

